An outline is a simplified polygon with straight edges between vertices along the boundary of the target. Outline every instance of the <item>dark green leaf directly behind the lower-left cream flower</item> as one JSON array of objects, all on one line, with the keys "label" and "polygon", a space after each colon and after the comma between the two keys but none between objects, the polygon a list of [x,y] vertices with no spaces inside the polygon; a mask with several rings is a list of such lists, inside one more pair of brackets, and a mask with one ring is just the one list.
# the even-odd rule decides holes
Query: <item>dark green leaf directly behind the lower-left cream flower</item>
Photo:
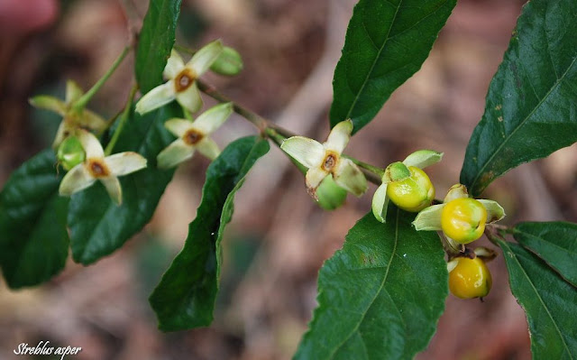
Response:
[{"label": "dark green leaf directly behind the lower-left cream flower", "polygon": [[174,173],[156,168],[156,156],[174,140],[163,122],[180,116],[179,111],[173,104],[143,116],[131,114],[114,152],[139,152],[147,158],[148,167],[120,178],[121,206],[112,202],[100,181],[72,195],[68,223],[76,262],[94,263],[113,253],[150,221]]}]

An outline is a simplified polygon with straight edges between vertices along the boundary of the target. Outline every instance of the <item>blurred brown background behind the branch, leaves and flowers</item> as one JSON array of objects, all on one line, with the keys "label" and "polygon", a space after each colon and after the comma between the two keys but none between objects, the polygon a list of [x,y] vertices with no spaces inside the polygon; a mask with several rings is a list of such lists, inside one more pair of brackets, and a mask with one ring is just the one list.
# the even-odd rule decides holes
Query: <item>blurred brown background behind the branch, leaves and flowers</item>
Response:
[{"label": "blurred brown background behind the branch, leaves and flowers", "polygon": [[[0,184],[50,144],[59,124],[57,116],[28,106],[27,98],[63,97],[67,78],[89,88],[122,51],[128,29],[141,26],[147,8],[145,0],[21,1],[28,6],[29,23],[23,23],[7,16],[14,1],[20,0],[0,0]],[[417,149],[442,151],[444,161],[428,171],[442,198],[458,181],[490,78],[523,3],[460,0],[423,69],[393,94],[347,152],[384,167]],[[243,73],[206,80],[279,125],[324,140],[334,66],[353,5],[184,0],[177,42],[196,47],[221,38],[234,46],[243,54]],[[110,116],[122,108],[133,81],[132,60],[124,61],[92,109]],[[215,138],[224,147],[252,133],[234,115]],[[79,355],[67,357],[79,360],[289,359],[315,308],[316,273],[370,210],[375,186],[325,212],[308,198],[302,175],[272,149],[236,198],[214,324],[162,334],[147,298],[186,238],[207,164],[195,157],[181,166],[151,224],[114,255],[86,268],[70,261],[39,288],[9,291],[0,285],[0,359],[15,358],[20,343],[40,340],[82,346]],[[576,221],[576,169],[573,146],[510,171],[486,198],[506,208],[505,223]],[[485,302],[449,296],[438,331],[418,359],[530,358],[527,322],[508,291],[503,259],[489,267],[494,285]]]}]

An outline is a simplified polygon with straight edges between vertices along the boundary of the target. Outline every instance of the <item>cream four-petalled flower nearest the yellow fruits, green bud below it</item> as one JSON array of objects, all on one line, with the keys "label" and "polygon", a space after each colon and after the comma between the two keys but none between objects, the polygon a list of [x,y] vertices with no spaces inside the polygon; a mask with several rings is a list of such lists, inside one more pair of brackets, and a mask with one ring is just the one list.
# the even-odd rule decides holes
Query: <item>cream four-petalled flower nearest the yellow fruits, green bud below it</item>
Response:
[{"label": "cream four-petalled flower nearest the yellow fruits, green bud below it", "polygon": [[305,179],[308,193],[313,198],[316,199],[316,189],[328,175],[333,176],[338,186],[358,197],[367,190],[367,180],[362,171],[354,162],[341,156],[352,131],[353,122],[345,120],[334,125],[325,143],[293,136],[280,145],[284,152],[308,168]]}]

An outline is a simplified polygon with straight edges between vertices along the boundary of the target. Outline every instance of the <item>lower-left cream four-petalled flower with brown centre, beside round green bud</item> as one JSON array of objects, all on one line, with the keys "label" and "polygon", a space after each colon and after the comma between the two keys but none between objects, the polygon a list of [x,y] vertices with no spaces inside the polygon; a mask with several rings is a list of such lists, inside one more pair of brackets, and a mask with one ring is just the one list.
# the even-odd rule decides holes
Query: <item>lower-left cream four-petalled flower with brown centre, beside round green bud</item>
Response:
[{"label": "lower-left cream four-petalled flower with brown centre, beside round green bud", "polygon": [[60,182],[60,195],[70,196],[100,180],[110,198],[120,205],[123,195],[118,177],[145,168],[146,159],[136,152],[119,152],[105,157],[104,149],[94,134],[79,129],[77,136],[86,152],[86,160],[64,176]]}]

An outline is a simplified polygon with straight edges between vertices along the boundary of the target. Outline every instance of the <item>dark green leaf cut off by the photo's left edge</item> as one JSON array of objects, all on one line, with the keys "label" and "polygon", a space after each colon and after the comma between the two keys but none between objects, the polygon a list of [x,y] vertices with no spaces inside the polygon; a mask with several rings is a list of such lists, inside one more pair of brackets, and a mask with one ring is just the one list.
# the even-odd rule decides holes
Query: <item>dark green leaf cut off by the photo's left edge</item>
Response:
[{"label": "dark green leaf cut off by the photo's left edge", "polygon": [[24,162],[0,193],[0,264],[11,288],[37,285],[64,269],[68,198],[51,149]]}]

